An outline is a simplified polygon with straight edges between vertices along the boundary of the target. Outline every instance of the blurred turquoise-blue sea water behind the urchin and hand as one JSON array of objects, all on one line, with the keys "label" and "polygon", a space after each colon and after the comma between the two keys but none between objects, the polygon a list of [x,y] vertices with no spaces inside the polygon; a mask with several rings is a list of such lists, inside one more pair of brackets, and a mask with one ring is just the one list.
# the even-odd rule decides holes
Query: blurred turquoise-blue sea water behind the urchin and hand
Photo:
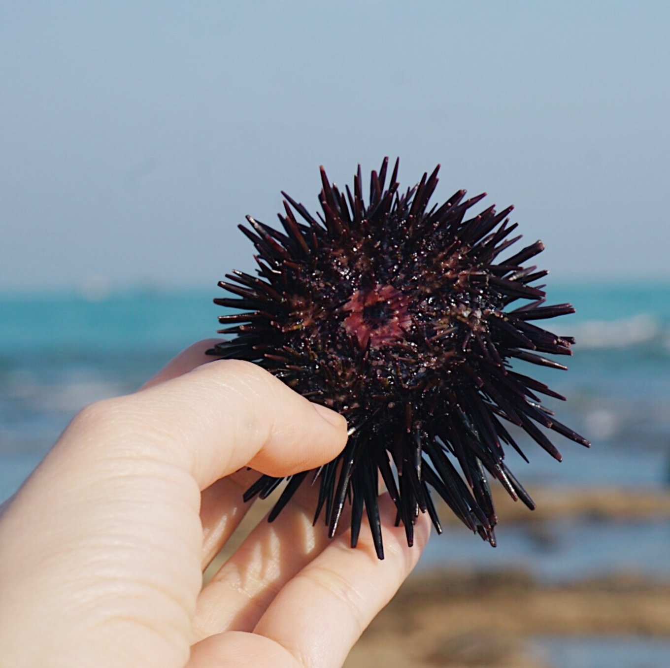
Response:
[{"label": "blurred turquoise-blue sea water behind the urchin and hand", "polygon": [[[214,335],[222,313],[212,304],[215,296],[216,286],[88,298],[0,296],[0,500],[21,484],[76,411],[133,391],[182,348]],[[559,360],[570,369],[517,368],[525,366],[525,373],[568,397],[547,404],[594,446],[587,450],[555,436],[564,457],[558,464],[521,436],[531,462],[511,452],[509,466],[529,484],[667,486],[670,284],[559,285],[549,302],[578,309],[544,321],[557,334],[576,337],[574,356]],[[667,527],[557,525],[555,535],[560,540],[553,557],[529,559],[541,577],[628,569],[638,561],[670,577]],[[502,529],[498,539],[492,551],[466,531],[449,531],[431,543],[426,561],[440,561],[448,551],[456,563],[506,563],[537,552],[517,529]]]}]

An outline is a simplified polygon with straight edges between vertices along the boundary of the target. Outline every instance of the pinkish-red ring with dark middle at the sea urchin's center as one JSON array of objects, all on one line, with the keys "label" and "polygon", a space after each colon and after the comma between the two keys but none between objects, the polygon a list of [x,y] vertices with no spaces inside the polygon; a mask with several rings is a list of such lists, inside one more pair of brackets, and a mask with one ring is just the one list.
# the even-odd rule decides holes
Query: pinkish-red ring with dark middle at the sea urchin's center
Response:
[{"label": "pinkish-red ring with dark middle at the sea urchin's center", "polygon": [[361,350],[401,340],[412,322],[407,298],[392,285],[356,290],[342,310],[349,312],[342,323],[344,329],[356,338]]}]

